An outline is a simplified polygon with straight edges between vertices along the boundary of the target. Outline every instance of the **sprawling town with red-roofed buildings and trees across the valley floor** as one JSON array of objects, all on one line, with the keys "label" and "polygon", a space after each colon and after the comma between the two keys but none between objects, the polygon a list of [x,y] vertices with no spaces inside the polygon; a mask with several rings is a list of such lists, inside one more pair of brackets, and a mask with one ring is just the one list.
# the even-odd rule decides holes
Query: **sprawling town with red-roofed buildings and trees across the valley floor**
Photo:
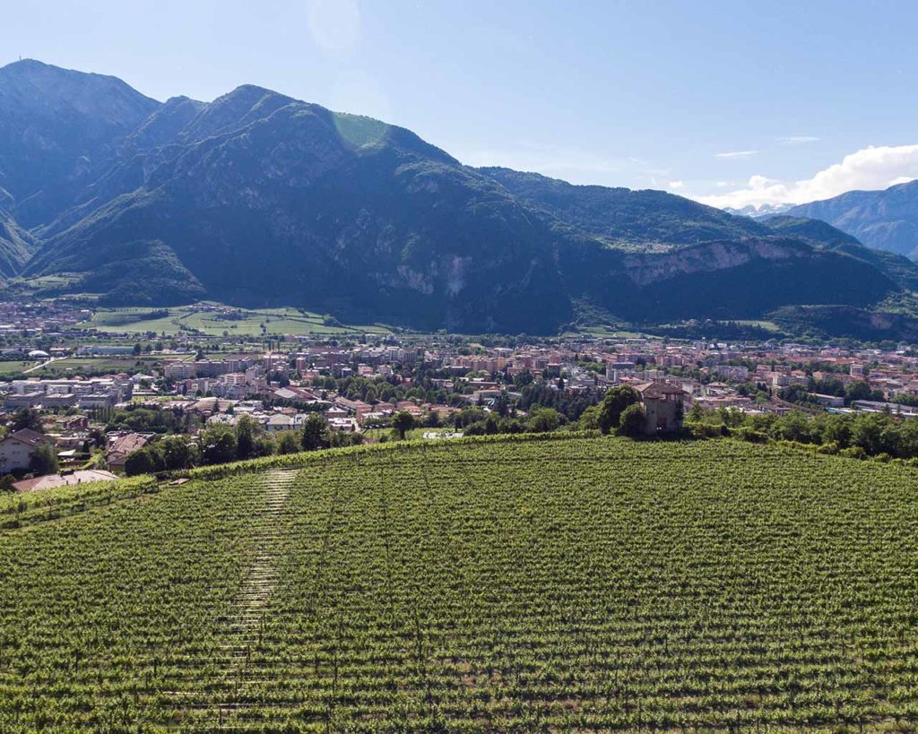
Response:
[{"label": "sprawling town with red-roofed buildings and trees across the valley floor", "polygon": [[[689,415],[918,417],[918,350],[905,342],[157,334],[100,331],[92,308],[65,299],[0,315],[0,470],[20,492],[329,446],[595,428],[621,385],[640,396],[645,436],[678,436]],[[173,456],[186,444],[179,464],[151,460],[163,440]]]}]

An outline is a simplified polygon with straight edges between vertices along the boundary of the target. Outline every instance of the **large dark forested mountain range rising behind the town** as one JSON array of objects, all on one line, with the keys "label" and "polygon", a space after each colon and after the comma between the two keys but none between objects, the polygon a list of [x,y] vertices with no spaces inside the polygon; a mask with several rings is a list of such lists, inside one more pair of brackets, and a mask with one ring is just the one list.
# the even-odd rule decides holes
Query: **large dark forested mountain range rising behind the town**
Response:
[{"label": "large dark forested mountain range rising behind the town", "polygon": [[161,103],[17,61],[0,69],[0,276],[7,295],[546,334],[830,306],[863,323],[918,266],[797,215],[472,168],[257,86]]}]

